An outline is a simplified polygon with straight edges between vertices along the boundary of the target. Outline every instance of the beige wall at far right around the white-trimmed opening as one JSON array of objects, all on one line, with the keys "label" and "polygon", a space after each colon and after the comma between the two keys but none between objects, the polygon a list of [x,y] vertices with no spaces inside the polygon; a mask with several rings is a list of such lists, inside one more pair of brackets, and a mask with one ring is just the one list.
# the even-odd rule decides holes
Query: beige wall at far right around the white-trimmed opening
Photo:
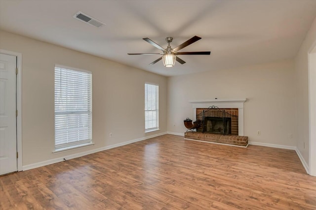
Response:
[{"label": "beige wall at far right around the white-trimmed opening", "polygon": [[[297,94],[297,148],[305,162],[309,164],[309,87],[308,87],[308,53],[316,42],[316,19],[314,20],[304,42],[295,58],[295,77]],[[315,128],[314,128],[315,129]],[[304,148],[305,144],[305,148]],[[316,152],[316,151],[314,151]]]}]

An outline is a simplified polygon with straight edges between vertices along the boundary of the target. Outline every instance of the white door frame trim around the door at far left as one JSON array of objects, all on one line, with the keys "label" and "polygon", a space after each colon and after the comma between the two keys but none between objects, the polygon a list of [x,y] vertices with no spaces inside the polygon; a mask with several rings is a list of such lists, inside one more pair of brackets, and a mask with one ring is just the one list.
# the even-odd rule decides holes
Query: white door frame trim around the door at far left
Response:
[{"label": "white door frame trim around the door at far left", "polygon": [[22,53],[17,53],[13,51],[0,49],[0,53],[16,56],[17,58],[17,68],[18,74],[16,77],[16,110],[18,111],[18,116],[16,118],[16,144],[17,144],[17,170],[23,170],[23,161],[22,161]]}]

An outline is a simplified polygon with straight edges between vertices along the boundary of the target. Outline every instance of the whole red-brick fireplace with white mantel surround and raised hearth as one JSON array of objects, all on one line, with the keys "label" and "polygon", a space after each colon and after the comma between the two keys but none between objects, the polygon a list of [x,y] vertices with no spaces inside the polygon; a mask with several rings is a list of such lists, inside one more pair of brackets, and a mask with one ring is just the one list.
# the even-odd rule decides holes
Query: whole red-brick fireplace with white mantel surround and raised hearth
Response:
[{"label": "whole red-brick fireplace with white mantel surround and raised hearth", "polygon": [[[245,101],[245,98],[190,101],[193,108],[192,119],[204,120],[205,123],[197,129],[197,132],[186,132],[185,139],[247,147],[248,137],[243,136],[243,103]],[[216,109],[208,109],[212,106],[218,107],[225,116],[220,115],[221,112]],[[203,110],[204,119],[201,114]],[[205,112],[205,110],[208,111]],[[226,132],[223,133],[223,129],[226,129]]]}]

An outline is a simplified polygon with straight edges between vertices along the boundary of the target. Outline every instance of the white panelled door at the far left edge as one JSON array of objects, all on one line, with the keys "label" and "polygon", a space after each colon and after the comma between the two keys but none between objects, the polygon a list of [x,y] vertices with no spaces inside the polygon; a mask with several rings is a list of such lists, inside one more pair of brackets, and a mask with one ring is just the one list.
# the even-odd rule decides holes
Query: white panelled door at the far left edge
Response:
[{"label": "white panelled door at the far left edge", "polygon": [[16,57],[0,54],[0,174],[17,171]]}]

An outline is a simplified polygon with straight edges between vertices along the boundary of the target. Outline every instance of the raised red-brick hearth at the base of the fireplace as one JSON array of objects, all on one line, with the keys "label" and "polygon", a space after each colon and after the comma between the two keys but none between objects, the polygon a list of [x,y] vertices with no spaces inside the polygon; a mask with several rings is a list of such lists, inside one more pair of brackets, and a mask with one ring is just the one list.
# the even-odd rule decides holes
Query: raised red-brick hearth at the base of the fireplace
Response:
[{"label": "raised red-brick hearth at the base of the fireplace", "polygon": [[199,140],[204,142],[221,143],[235,146],[246,147],[248,145],[247,136],[236,135],[220,135],[212,133],[200,133],[200,132],[185,132],[185,139]]}]

